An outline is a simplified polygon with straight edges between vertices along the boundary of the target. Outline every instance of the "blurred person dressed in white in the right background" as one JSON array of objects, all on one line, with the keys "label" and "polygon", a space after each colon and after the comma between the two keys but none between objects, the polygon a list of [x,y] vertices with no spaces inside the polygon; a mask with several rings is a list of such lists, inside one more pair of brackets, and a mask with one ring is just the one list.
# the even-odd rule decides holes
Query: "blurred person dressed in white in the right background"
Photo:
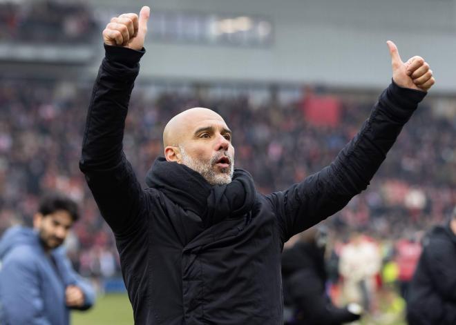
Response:
[{"label": "blurred person dressed in white in the right background", "polygon": [[354,233],[343,246],[339,259],[339,273],[343,276],[343,294],[371,311],[376,288],[376,276],[381,269],[381,254],[372,240]]}]

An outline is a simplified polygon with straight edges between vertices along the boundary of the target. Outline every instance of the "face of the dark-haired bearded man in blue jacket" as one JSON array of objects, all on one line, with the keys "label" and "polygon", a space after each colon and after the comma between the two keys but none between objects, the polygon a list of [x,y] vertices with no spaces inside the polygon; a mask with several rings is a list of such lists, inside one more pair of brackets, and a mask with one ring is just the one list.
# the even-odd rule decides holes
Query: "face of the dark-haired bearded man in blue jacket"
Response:
[{"label": "face of the dark-haired bearded man in blue jacket", "polygon": [[63,244],[73,225],[73,219],[67,211],[57,210],[50,215],[37,213],[33,219],[33,224],[34,228],[38,230],[44,250],[52,250]]}]

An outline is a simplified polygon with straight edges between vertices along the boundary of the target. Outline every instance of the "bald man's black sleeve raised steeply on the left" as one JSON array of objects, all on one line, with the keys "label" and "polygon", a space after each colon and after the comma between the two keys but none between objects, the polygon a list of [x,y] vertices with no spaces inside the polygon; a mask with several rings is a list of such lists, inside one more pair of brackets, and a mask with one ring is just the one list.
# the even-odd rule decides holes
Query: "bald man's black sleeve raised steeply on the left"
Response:
[{"label": "bald man's black sleeve raised steeply on the left", "polygon": [[79,168],[116,235],[140,229],[145,195],[122,150],[125,119],[143,51],[105,46],[88,107]]}]

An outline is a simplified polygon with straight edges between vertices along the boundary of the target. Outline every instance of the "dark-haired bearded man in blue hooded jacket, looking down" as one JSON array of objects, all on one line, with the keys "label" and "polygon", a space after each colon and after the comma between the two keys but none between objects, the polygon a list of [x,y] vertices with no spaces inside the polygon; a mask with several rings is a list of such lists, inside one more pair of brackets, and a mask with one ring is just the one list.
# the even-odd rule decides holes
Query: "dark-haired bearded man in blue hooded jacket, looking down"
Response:
[{"label": "dark-haired bearded man in blue hooded jacket, looking down", "polygon": [[33,229],[15,226],[0,242],[0,324],[66,325],[70,309],[86,310],[95,293],[73,270],[63,244],[77,205],[62,195],[41,200]]}]

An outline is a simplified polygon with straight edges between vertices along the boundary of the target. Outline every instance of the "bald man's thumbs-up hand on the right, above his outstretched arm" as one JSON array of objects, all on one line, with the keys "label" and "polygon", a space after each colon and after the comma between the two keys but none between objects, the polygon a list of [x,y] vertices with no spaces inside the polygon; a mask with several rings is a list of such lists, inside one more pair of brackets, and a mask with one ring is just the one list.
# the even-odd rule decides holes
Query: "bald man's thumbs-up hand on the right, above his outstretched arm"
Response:
[{"label": "bald man's thumbs-up hand on the right, above his outstretched arm", "polygon": [[403,63],[397,46],[387,41],[391,55],[392,79],[398,86],[421,91],[428,91],[435,83],[433,70],[422,57],[412,57]]}]

